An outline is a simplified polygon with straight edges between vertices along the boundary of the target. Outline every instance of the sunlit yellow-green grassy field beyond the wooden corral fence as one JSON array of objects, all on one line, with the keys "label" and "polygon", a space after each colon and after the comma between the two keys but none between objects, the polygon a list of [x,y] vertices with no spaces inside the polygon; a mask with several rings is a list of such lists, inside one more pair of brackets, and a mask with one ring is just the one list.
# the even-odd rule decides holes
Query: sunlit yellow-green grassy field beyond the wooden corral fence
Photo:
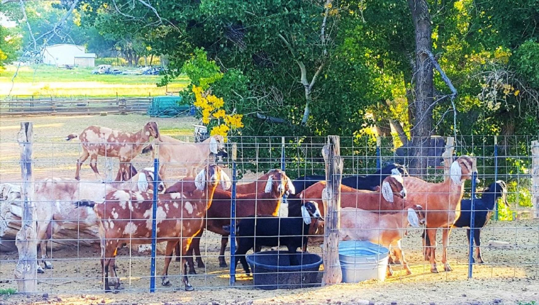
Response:
[{"label": "sunlit yellow-green grassy field beyond the wooden corral fence", "polygon": [[156,96],[167,91],[183,90],[189,79],[182,77],[167,87],[157,87],[158,75],[94,75],[92,68],[59,69],[39,65],[6,66],[0,74],[0,98],[11,95],[52,95],[53,97]]}]

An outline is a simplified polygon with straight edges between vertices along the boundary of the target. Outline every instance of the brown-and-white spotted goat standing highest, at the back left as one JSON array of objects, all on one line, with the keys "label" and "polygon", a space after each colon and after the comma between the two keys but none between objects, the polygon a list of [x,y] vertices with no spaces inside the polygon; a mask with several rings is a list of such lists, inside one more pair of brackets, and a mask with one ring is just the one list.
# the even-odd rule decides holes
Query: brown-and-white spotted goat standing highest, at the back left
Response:
[{"label": "brown-and-white spotted goat standing highest, at the back left", "polygon": [[129,173],[127,173],[126,164],[141,153],[144,143],[147,143],[150,137],[161,141],[161,134],[155,122],[146,123],[141,130],[135,133],[120,132],[107,127],[92,125],[86,127],[80,135],[76,133],[70,134],[66,137],[66,140],[70,141],[74,138],[79,138],[82,147],[82,152],[77,160],[75,179],[80,180],[80,166],[90,157],[90,167],[93,169],[96,178],[103,180],[98,172],[98,155],[120,159],[120,169],[118,170],[118,175],[116,175],[116,181],[131,178],[130,168]]}]

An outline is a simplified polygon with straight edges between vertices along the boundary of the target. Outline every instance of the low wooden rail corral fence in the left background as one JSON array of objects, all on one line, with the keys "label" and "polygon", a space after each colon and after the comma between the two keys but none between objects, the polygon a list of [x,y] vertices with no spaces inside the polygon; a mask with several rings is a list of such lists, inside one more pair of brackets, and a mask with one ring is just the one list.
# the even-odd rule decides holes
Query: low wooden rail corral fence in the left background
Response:
[{"label": "low wooden rail corral fence in the left background", "polygon": [[152,97],[59,99],[47,96],[14,97],[0,101],[0,116],[128,114],[146,112]]}]

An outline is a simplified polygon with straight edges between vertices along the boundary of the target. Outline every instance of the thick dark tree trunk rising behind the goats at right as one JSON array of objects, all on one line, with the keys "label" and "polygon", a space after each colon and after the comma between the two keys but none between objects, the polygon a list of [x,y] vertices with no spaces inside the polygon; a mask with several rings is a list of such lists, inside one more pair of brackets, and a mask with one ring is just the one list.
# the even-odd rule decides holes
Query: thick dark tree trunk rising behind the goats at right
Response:
[{"label": "thick dark tree trunk rising behind the goats at right", "polygon": [[432,51],[432,29],[429,4],[426,0],[408,0],[416,29],[416,62],[414,71],[413,149],[410,174],[423,175],[427,168],[432,108],[434,106],[433,66],[429,59]]}]

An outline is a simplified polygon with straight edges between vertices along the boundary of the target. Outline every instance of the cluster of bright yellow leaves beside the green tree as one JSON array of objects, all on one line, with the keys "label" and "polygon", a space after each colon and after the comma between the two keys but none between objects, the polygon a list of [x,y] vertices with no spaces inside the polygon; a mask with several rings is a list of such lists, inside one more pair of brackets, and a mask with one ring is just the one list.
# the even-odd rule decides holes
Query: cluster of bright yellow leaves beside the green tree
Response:
[{"label": "cluster of bright yellow leaves beside the green tree", "polygon": [[204,91],[202,87],[195,84],[192,87],[192,92],[195,94],[195,102],[193,103],[202,112],[202,123],[210,124],[212,119],[217,119],[217,124],[211,127],[210,136],[220,135],[227,140],[227,136],[231,130],[243,127],[241,119],[243,115],[226,114],[223,108],[225,102],[222,97],[217,97],[209,91]]}]

